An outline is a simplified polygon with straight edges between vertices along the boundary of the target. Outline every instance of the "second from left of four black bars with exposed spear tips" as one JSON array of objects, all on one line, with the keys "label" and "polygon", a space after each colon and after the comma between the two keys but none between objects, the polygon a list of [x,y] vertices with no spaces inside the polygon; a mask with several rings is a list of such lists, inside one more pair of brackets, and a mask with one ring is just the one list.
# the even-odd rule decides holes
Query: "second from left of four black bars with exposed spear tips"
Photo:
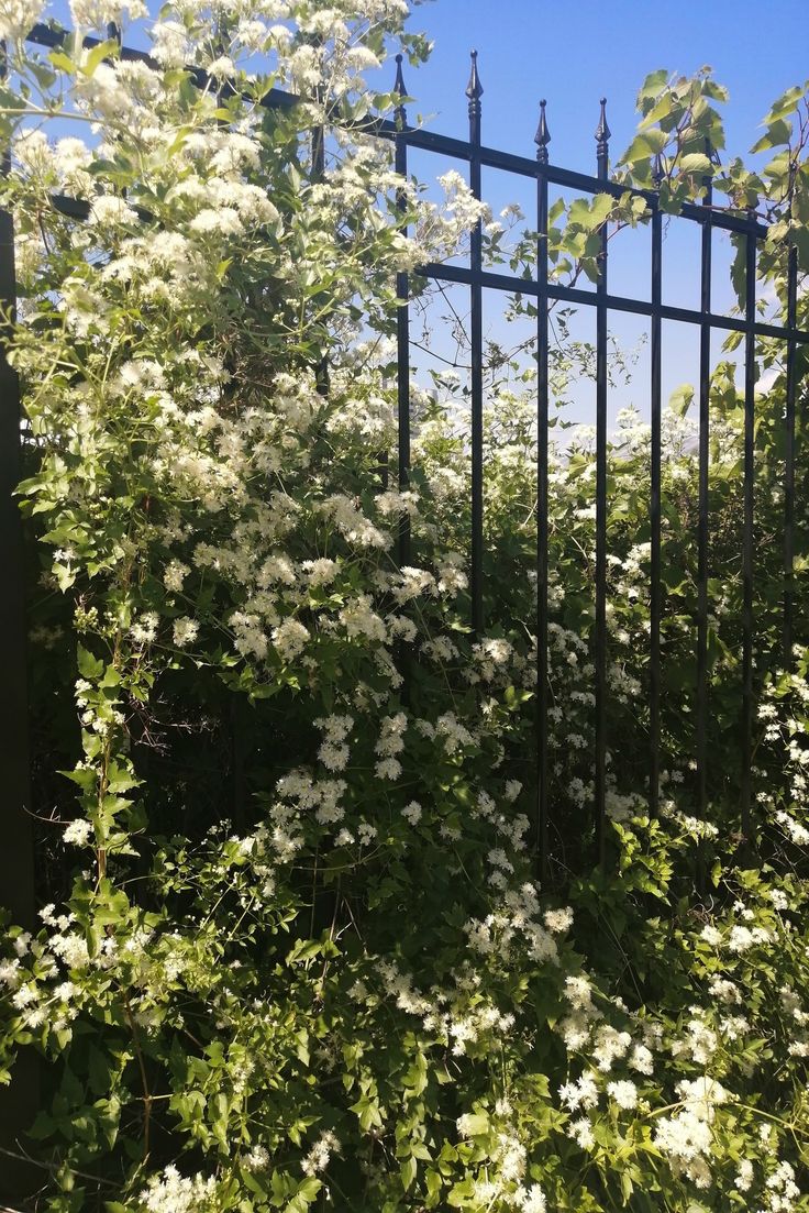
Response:
[{"label": "second from left of four black bars with exposed spear tips", "polygon": [[[480,198],[480,97],[478,52],[472,51],[472,73],[466,95],[469,98],[469,188]],[[472,343],[472,631],[483,632],[483,222],[472,229],[469,338]]]}]

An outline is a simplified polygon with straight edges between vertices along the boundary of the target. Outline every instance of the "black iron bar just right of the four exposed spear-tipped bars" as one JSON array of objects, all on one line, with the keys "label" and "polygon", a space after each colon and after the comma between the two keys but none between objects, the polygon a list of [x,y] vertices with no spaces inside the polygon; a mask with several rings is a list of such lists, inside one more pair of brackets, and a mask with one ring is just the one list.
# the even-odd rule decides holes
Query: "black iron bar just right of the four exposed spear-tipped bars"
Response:
[{"label": "black iron bar just right of the four exposed spear-tipped bars", "polygon": [[[660,186],[662,166],[655,163],[654,181]],[[655,198],[651,211],[651,468],[650,468],[650,558],[649,596],[649,815],[657,815],[660,797],[660,461],[661,461],[661,317],[662,302],[662,215]]]}]

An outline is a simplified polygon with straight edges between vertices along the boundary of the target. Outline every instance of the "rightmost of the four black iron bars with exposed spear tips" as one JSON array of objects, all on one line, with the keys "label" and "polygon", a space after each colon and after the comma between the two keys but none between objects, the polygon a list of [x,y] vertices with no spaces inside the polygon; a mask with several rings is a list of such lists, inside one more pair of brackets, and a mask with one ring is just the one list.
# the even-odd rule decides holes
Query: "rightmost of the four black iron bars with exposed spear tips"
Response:
[{"label": "rightmost of the four black iron bars with exposed spear tips", "polygon": [[[599,181],[606,181],[610,129],[606,98],[596,129]],[[606,223],[602,247],[596,303],[596,852],[604,864],[606,843]]]}]

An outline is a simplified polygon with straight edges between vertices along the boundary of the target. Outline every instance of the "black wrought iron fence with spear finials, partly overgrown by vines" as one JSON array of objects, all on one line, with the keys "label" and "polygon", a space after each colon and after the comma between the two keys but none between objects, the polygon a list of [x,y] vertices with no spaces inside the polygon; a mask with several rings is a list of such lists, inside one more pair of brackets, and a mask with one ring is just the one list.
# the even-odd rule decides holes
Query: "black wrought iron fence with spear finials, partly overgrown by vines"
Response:
[{"label": "black wrought iron fence with spear finials, partly overgrown by vines", "polygon": [[[118,36],[114,27],[110,36]],[[29,40],[44,47],[58,47],[67,32],[38,25]],[[86,38],[87,47],[99,45],[98,39]],[[124,59],[152,63],[149,57],[126,46],[120,47]],[[199,69],[190,69],[194,84],[210,87],[212,81]],[[216,85],[221,96],[228,87]],[[528,178],[536,183],[537,262],[534,279],[503,274],[484,268],[483,224],[472,230],[468,266],[426,264],[420,275],[437,283],[460,284],[469,291],[469,347],[471,347],[471,536],[469,536],[469,586],[471,619],[473,633],[484,628],[484,366],[483,366],[483,291],[495,290],[519,294],[536,301],[536,354],[537,354],[537,536],[536,536],[536,610],[537,610],[537,730],[536,730],[536,835],[540,866],[545,871],[548,858],[548,828],[551,809],[548,804],[548,308],[556,301],[594,308],[596,312],[596,577],[594,577],[594,837],[597,858],[604,860],[606,824],[606,754],[608,754],[608,315],[610,312],[631,313],[650,321],[650,718],[649,718],[649,809],[654,815],[660,796],[660,721],[661,721],[661,324],[676,320],[695,326],[700,340],[699,374],[699,525],[697,525],[697,604],[696,604],[696,776],[697,810],[707,808],[707,722],[708,722],[708,466],[710,466],[710,387],[711,387],[711,336],[716,331],[739,332],[745,344],[744,382],[744,519],[742,519],[742,704],[741,704],[741,763],[742,786],[740,788],[740,827],[742,835],[751,825],[751,759],[753,721],[753,562],[754,562],[754,425],[756,425],[756,340],[769,337],[782,341],[786,347],[786,410],[785,426],[785,483],[784,483],[784,603],[782,650],[785,661],[791,660],[794,620],[794,506],[796,506],[796,399],[798,386],[797,352],[809,343],[809,332],[797,326],[797,250],[788,249],[787,270],[787,323],[769,324],[756,313],[756,263],[759,243],[767,239],[768,227],[751,213],[719,210],[713,205],[711,178],[705,181],[705,194],[700,204],[685,203],[679,215],[699,224],[701,230],[700,258],[700,307],[684,308],[662,302],[662,217],[659,186],[662,172],[656,165],[655,188],[631,188],[609,177],[610,130],[606,121],[606,103],[600,102],[600,115],[596,129],[596,175],[575,172],[551,164],[548,144],[551,135],[546,118],[546,102],[540,102],[540,121],[535,136],[535,158],[514,155],[489,148],[482,138],[483,87],[478,74],[477,52],[472,53],[472,72],[466,90],[468,98],[469,133],[462,141],[412,127],[408,123],[404,101],[406,90],[401,72],[401,56],[397,57],[394,91],[400,102],[393,120],[364,121],[357,124],[365,133],[392,141],[395,170],[408,175],[408,153],[420,149],[439,156],[465,161],[468,165],[469,184],[477,199],[482,198],[482,170],[496,169]],[[279,90],[270,90],[262,99],[268,108],[291,109],[302,98]],[[710,150],[710,149],[708,149]],[[324,171],[324,133],[313,133],[314,171]],[[6,161],[7,169],[7,161]],[[651,281],[648,301],[609,291],[608,277],[608,228],[600,229],[599,277],[596,291],[565,286],[553,281],[549,274],[548,255],[548,186],[569,188],[586,195],[599,193],[621,198],[627,193],[645,201],[650,211]],[[75,218],[86,218],[90,205],[86,201],[55,197],[56,209]],[[406,210],[404,193],[398,195],[398,206]],[[728,317],[712,311],[711,269],[712,235],[724,230],[744,240],[746,250],[746,298],[744,317]],[[406,489],[411,475],[411,368],[410,368],[410,317],[411,295],[409,275],[397,277],[397,296],[401,301],[397,317],[398,346],[398,483]],[[13,226],[7,212],[0,212],[0,302],[13,308]],[[327,372],[319,370],[319,385],[327,391]],[[0,596],[0,662],[6,674],[5,694],[0,696],[0,738],[4,746],[2,775],[8,803],[4,828],[2,887],[4,900],[16,921],[33,919],[34,872],[28,814],[28,753],[25,740],[27,688],[25,688],[25,626],[22,602],[23,563],[19,519],[12,494],[18,480],[19,398],[16,377],[5,355],[0,361],[1,448],[0,448],[0,560],[6,569],[6,587]],[[387,472],[386,472],[387,474]],[[398,537],[400,564],[409,563],[411,536],[409,522],[403,518]]]}]

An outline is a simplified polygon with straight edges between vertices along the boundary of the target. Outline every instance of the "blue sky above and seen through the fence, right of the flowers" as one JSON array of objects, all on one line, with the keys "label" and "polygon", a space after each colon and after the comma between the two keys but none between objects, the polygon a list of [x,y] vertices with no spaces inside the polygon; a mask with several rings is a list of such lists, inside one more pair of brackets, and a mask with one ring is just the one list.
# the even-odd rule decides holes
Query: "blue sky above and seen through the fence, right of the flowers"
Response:
[{"label": "blue sky above and seen through the fence, right of the flowers", "polygon": [[[414,10],[411,28],[434,42],[429,62],[409,69],[406,85],[417,98],[411,120],[445,135],[467,133],[468,53],[479,52],[483,97],[483,141],[532,156],[537,103],[547,98],[552,135],[551,160],[594,172],[599,97],[608,97],[615,158],[627,147],[637,123],[634,99],[644,76],[657,68],[690,74],[711,64],[730,91],[725,107],[728,149],[724,155],[747,158],[762,118],[787,87],[809,75],[809,0],[575,0],[568,6],[546,0],[426,0]],[[751,158],[748,158],[750,160]],[[435,156],[412,158],[421,176],[441,171]],[[752,163],[752,160],[751,160]],[[460,167],[460,166],[458,166]],[[515,200],[531,216],[530,183],[484,172],[484,194],[498,210]],[[699,306],[699,235],[694,223],[671,221],[663,249],[663,300]],[[610,256],[610,289],[615,294],[649,297],[648,229],[622,233]],[[731,250],[727,238],[713,237],[714,311],[733,306],[728,287]],[[454,295],[458,311],[463,292]],[[501,337],[505,328],[495,297],[486,295],[486,331]],[[610,328],[626,348],[638,349],[633,382],[610,394],[610,415],[629,403],[646,411],[648,331],[638,318],[610,315]],[[592,340],[593,324],[583,313],[574,335]],[[440,344],[441,352],[446,347]],[[697,374],[697,332],[685,325],[663,324],[663,388],[693,382]],[[722,357],[714,337],[714,360]],[[591,420],[588,385],[582,385],[570,420]]]}]

